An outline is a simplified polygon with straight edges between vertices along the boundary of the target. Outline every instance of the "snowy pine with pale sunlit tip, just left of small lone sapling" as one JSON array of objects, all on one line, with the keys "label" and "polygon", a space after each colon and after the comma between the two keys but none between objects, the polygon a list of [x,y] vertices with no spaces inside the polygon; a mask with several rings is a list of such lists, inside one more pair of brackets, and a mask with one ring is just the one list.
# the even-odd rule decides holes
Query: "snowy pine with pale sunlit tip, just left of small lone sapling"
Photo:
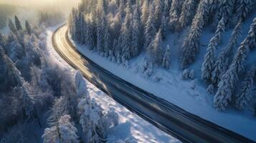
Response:
[{"label": "snowy pine with pale sunlit tip, just left of small lone sapling", "polygon": [[156,64],[162,64],[163,61],[163,49],[161,48],[161,29],[158,30],[155,39],[152,41],[152,45],[148,46],[148,53],[151,56],[151,60]]}]

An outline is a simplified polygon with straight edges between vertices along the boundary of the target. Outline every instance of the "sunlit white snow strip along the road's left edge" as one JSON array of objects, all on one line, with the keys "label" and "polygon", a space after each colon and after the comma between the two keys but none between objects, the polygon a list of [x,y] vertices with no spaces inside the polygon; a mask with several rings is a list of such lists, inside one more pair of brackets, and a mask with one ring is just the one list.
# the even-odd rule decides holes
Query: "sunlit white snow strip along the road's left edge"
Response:
[{"label": "sunlit white snow strip along the road's left edge", "polygon": [[[64,67],[67,72],[75,74],[75,69],[67,64],[52,47],[52,32],[55,29],[57,29],[57,26],[47,30],[47,50],[49,50],[49,55],[47,56],[49,56],[52,61]],[[128,109],[125,109],[125,107],[115,102],[93,84],[87,82],[87,80],[86,83],[90,96],[96,99],[98,104],[103,107],[104,112],[108,112],[109,109],[114,109],[119,115],[119,125],[114,127],[109,133],[108,137],[110,142],[127,138],[135,139],[137,142],[179,142],[178,139],[171,137],[169,134],[149,124],[141,117],[128,111]]]}]

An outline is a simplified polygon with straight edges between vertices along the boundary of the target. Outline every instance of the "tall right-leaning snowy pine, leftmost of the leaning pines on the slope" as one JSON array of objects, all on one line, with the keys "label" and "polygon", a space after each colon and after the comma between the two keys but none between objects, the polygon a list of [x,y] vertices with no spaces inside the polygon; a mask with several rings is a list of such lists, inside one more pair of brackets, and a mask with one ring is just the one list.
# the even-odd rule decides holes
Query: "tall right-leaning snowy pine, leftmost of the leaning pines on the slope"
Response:
[{"label": "tall right-leaning snowy pine, leftmost of the leaning pines on the slope", "polygon": [[186,36],[183,45],[181,46],[181,68],[185,69],[189,64],[196,59],[196,54],[199,51],[199,39],[202,35],[202,28],[205,24],[205,19],[209,14],[208,0],[202,0],[196,11],[196,16],[193,19],[189,34]]}]

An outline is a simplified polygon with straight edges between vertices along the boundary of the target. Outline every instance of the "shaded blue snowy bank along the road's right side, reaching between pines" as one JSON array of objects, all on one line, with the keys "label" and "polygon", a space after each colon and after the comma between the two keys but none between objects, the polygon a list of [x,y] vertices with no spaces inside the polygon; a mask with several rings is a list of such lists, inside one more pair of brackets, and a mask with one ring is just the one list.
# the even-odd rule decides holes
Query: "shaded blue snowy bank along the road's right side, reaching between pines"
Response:
[{"label": "shaded blue snowy bank along the road's right side, reaching between pines", "polygon": [[[250,29],[252,19],[255,16],[256,14],[252,14],[252,16],[242,24],[242,36],[239,39],[237,47],[240,45],[240,42],[245,39],[245,36]],[[157,70],[155,69],[151,77],[145,77],[139,70],[139,66],[143,63],[145,54],[141,54],[129,61],[129,68],[125,69],[124,66],[115,64],[108,60],[108,58],[100,56],[96,51],[90,51],[86,46],[81,46],[74,41],[72,42],[82,54],[85,54],[85,56],[95,61],[95,63],[118,77],[125,79],[127,82],[130,82],[141,89],[145,89],[158,97],[166,99],[192,114],[196,114],[203,119],[207,119],[210,122],[219,124],[222,127],[256,141],[256,121],[255,117],[252,116],[252,109],[247,108],[240,112],[234,108],[229,108],[226,112],[217,112],[213,108],[213,95],[206,92],[207,87],[200,79],[204,54],[207,45],[209,44],[209,39],[213,36],[211,28],[204,28],[200,53],[197,56],[196,62],[189,67],[189,69],[194,69],[196,79],[193,81],[181,80],[180,74],[182,73],[182,70],[179,68],[179,49],[184,41],[185,33],[186,32],[181,34],[170,34],[167,37],[168,40],[163,41],[163,46],[166,44],[171,46],[171,68],[168,70],[161,68]],[[224,32],[224,35],[222,36],[222,44],[217,49],[218,52],[219,49],[227,44],[231,33],[232,30]],[[255,62],[256,57],[252,56],[253,54],[255,54],[255,51],[249,55],[250,58],[247,60],[247,64]],[[253,102],[255,101],[256,100],[253,99]]]}]

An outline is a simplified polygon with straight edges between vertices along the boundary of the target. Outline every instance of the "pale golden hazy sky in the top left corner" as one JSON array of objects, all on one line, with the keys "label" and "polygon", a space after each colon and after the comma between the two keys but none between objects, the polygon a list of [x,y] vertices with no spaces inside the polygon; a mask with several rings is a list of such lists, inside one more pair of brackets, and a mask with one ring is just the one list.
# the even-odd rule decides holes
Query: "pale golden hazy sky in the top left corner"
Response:
[{"label": "pale golden hazy sky in the top left corner", "polygon": [[77,5],[80,0],[0,0],[0,4],[15,4],[19,6],[31,6],[44,8],[45,6],[56,6],[57,9],[65,10]]}]

